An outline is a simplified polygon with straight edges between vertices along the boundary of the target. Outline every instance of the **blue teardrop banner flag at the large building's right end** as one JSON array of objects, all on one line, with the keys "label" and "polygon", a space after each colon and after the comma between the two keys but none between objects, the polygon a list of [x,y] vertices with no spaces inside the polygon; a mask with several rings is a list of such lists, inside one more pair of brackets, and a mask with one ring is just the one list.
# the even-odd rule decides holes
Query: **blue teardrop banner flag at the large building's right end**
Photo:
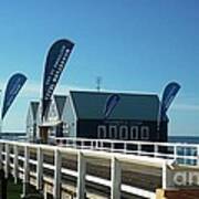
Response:
[{"label": "blue teardrop banner flag at the large building's right end", "polygon": [[163,118],[166,117],[167,111],[170,107],[170,104],[172,103],[180,87],[181,86],[176,82],[171,82],[165,87],[163,100],[159,107],[158,126]]}]

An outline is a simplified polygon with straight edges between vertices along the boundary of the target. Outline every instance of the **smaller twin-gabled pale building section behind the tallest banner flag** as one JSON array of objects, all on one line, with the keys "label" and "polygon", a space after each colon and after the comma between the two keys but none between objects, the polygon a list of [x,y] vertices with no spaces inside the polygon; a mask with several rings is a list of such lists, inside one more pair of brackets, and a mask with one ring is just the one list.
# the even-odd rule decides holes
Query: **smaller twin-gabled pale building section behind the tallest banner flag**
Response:
[{"label": "smaller twin-gabled pale building section behind the tallest banner flag", "polygon": [[27,134],[30,140],[40,138],[40,128],[46,128],[49,136],[64,136],[64,123],[62,121],[66,96],[54,95],[49,108],[41,122],[41,103],[31,102],[27,115]]}]

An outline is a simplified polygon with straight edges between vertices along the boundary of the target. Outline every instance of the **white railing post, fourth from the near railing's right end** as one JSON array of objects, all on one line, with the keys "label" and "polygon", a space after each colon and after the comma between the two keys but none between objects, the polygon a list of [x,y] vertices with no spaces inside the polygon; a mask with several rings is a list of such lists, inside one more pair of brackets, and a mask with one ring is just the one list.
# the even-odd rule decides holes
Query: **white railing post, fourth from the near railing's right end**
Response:
[{"label": "white railing post, fourth from the near railing's right end", "polygon": [[54,150],[54,188],[53,199],[61,198],[61,168],[62,168],[62,156],[59,149]]}]

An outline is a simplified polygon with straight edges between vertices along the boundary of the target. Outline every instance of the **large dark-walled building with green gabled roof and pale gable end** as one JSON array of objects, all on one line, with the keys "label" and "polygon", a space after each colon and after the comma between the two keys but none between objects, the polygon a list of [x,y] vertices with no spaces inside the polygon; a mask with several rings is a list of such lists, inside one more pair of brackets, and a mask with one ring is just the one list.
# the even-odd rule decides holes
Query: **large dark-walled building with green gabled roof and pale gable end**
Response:
[{"label": "large dark-walled building with green gabled roof and pale gable end", "polygon": [[167,142],[168,118],[157,130],[159,98],[149,94],[118,94],[121,101],[104,119],[103,109],[113,93],[72,91],[63,121],[69,137]]}]

